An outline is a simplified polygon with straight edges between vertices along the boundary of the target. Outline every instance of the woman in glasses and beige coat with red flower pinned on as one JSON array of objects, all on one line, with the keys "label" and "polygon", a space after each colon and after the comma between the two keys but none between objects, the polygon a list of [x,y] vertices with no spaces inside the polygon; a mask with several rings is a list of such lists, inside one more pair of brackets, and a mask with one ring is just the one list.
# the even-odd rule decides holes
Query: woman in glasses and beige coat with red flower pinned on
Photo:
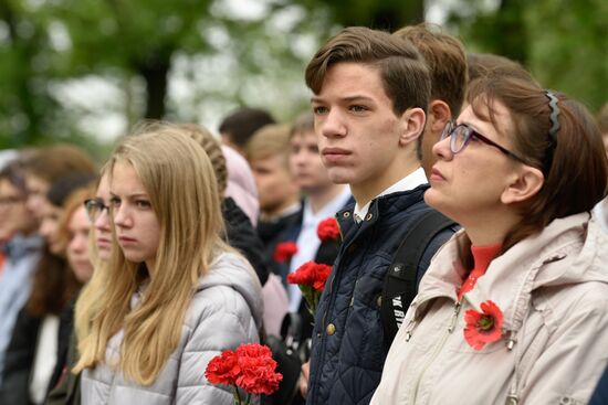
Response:
[{"label": "woman in glasses and beige coat with red flower pinned on", "polygon": [[490,75],[433,147],[429,205],[462,225],[436,255],[373,404],[583,404],[606,366],[608,163],[589,113]]}]

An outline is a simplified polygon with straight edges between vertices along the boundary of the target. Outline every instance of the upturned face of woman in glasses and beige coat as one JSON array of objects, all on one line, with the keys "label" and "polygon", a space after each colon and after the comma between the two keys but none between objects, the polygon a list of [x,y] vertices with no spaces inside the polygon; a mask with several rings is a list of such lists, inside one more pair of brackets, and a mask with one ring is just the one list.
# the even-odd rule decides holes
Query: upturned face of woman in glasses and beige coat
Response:
[{"label": "upturned face of woman in glasses and beige coat", "polygon": [[[480,114],[486,107],[480,105]],[[511,116],[502,104],[495,102],[497,128],[491,121],[475,116],[468,106],[458,117],[458,124],[467,124],[475,131],[513,151],[506,134],[512,134]],[[429,178],[431,188],[424,194],[427,203],[460,224],[467,226],[475,221],[488,221],[503,209],[503,192],[516,177],[517,162],[495,147],[474,137],[458,153],[450,150],[450,138],[440,140],[433,147],[437,163]]]}]

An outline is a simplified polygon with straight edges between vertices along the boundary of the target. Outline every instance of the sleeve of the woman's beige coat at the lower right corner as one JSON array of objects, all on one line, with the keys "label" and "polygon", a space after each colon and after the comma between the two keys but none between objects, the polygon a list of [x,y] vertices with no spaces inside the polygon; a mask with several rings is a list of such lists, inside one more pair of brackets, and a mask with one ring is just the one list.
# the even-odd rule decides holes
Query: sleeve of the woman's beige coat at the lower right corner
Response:
[{"label": "sleeve of the woman's beige coat at the lower right corner", "polygon": [[[521,403],[586,404],[589,401],[608,361],[608,299],[581,297],[572,307],[568,316],[547,322],[545,328],[551,338],[547,345],[539,349],[537,359],[532,354],[526,364],[524,355],[520,373]],[[528,349],[534,350],[534,345]]]}]

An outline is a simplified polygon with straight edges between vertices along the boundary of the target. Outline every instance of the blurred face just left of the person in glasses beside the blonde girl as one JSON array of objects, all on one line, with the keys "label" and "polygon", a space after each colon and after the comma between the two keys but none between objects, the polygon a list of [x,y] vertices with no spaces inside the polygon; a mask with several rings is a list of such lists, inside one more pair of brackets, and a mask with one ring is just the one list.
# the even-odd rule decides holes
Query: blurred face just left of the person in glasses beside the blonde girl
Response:
[{"label": "blurred face just left of the person in glasses beside the blonde girl", "polygon": [[93,276],[93,264],[88,255],[88,231],[91,222],[86,217],[86,210],[80,206],[74,211],[67,224],[70,242],[66,256],[76,279],[82,284],[87,283]]}]

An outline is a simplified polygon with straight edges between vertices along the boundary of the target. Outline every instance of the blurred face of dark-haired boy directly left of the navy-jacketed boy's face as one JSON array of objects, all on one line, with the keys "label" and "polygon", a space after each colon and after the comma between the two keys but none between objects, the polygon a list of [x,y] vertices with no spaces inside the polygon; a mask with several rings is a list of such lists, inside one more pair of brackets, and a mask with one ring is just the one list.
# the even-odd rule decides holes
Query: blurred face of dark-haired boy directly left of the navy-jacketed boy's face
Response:
[{"label": "blurred face of dark-haired boy directly left of the navy-jacketed boy's face", "polygon": [[294,134],[290,147],[290,170],[302,190],[314,192],[333,185],[318,154],[315,132]]}]

